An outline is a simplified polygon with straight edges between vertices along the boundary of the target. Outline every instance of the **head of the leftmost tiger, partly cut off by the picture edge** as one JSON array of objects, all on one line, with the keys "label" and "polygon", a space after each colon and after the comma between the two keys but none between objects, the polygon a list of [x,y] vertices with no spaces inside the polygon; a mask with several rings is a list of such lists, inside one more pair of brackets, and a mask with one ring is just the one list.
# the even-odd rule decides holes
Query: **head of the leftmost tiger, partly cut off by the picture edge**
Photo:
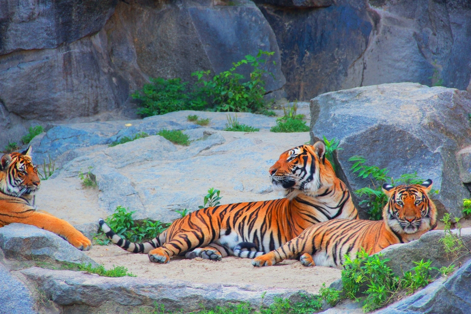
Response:
[{"label": "head of the leftmost tiger, partly cut off by the picture edge", "polygon": [[41,181],[30,154],[31,146],[24,152],[5,154],[0,158],[0,190],[3,193],[19,197],[38,190]]}]

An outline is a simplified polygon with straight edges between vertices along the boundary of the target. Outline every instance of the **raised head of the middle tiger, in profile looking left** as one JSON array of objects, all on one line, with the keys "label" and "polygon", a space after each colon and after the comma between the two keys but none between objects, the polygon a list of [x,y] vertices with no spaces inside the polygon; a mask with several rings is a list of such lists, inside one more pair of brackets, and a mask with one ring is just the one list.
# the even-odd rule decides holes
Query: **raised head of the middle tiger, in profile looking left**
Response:
[{"label": "raised head of the middle tiger, in profile looking left", "polygon": [[289,199],[301,192],[315,196],[321,186],[328,187],[337,179],[321,141],[284,152],[269,173],[274,188],[284,190]]}]

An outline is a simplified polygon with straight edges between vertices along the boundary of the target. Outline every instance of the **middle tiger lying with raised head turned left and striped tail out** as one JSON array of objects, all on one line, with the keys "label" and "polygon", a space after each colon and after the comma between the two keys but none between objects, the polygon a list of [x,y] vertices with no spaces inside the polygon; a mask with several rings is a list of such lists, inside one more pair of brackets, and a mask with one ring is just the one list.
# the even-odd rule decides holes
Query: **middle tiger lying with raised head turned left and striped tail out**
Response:
[{"label": "middle tiger lying with raised head turned left and striped tail out", "polygon": [[286,191],[286,198],[199,209],[177,219],[146,243],[121,239],[103,219],[99,223],[108,238],[123,249],[148,253],[151,262],[167,263],[183,254],[221,260],[228,255],[247,257],[247,249],[252,247],[269,252],[315,223],[358,219],[350,192],[325,159],[324,143],[290,149],[269,173],[273,185]]}]

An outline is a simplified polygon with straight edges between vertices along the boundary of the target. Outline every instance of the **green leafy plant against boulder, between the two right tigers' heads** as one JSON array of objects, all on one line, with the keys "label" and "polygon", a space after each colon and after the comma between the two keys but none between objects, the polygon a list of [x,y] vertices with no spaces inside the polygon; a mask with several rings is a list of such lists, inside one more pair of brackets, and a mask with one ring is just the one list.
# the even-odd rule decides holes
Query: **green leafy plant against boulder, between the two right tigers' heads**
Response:
[{"label": "green leafy plant against boulder, between the two right tigers' heads", "polygon": [[[359,197],[367,197],[366,200],[360,202],[360,205],[366,204],[369,207],[368,213],[372,220],[382,219],[383,208],[388,202],[388,197],[381,188],[384,183],[394,186],[394,184],[420,184],[425,181],[417,175],[417,172],[403,174],[399,179],[394,180],[388,176],[388,168],[380,169],[378,166],[368,166],[366,165],[366,159],[361,156],[353,156],[348,160],[354,161],[351,167],[353,173],[358,172],[357,176],[359,178],[366,179],[369,177],[371,181],[370,186],[355,190],[354,193]],[[432,189],[430,191],[430,194],[436,193],[438,193],[438,190]]]}]

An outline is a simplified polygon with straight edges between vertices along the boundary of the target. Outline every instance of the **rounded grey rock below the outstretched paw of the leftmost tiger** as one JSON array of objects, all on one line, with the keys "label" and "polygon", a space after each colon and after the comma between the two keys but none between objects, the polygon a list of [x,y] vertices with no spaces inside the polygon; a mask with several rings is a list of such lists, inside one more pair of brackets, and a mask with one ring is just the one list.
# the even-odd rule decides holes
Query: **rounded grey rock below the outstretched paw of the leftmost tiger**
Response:
[{"label": "rounded grey rock below the outstretched paw of the leftmost tiger", "polygon": [[25,224],[13,223],[0,228],[0,249],[8,260],[98,265],[58,235]]}]

